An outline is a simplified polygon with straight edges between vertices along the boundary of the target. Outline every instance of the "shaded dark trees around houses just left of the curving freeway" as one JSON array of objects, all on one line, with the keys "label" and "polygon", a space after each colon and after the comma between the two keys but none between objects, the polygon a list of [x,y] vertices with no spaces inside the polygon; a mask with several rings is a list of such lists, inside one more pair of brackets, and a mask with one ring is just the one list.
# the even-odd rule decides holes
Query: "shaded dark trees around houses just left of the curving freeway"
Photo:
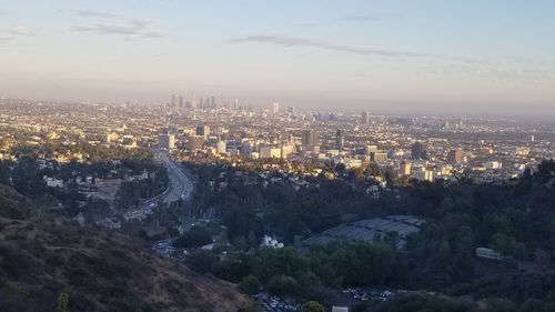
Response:
[{"label": "shaded dark trees around houses just left of the curving freeway", "polygon": [[[83,213],[87,221],[92,222],[107,217],[112,211],[104,200],[87,199],[83,191],[94,191],[98,179],[127,179],[148,172],[145,179],[123,182],[117,193],[117,207],[124,211],[139,204],[140,200],[153,198],[165,190],[168,173],[163,167],[155,164],[151,153],[138,151],[117,153],[124,157],[114,161],[95,163],[69,162],[60,164],[51,161],[49,165],[40,165],[39,151],[19,151],[18,162],[0,161],[0,184],[10,185],[32,201],[37,208],[61,207],[60,214],[74,218]],[[64,188],[48,188],[43,177],[56,177],[64,182]],[[92,184],[79,185],[78,179],[85,181],[92,178]],[[51,213],[51,212],[50,212]],[[43,213],[39,213],[43,214]]]}]

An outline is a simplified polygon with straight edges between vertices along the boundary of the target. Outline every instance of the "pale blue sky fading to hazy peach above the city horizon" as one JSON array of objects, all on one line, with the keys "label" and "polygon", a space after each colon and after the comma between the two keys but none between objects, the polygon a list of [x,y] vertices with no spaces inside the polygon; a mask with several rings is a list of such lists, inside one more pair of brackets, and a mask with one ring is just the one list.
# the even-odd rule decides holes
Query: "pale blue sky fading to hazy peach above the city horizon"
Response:
[{"label": "pale blue sky fading to hazy peach above the city horizon", "polygon": [[552,0],[0,0],[0,95],[555,117]]}]

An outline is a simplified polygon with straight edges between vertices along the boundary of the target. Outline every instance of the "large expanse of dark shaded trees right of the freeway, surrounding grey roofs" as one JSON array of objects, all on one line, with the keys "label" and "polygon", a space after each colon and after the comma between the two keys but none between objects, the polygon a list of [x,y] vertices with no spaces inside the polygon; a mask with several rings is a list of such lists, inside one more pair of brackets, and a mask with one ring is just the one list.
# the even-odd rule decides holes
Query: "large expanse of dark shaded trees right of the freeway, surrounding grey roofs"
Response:
[{"label": "large expanse of dark shaded trees right of the freeway, surrounding grey roofs", "polygon": [[[255,246],[263,233],[292,243],[295,235],[306,236],[352,218],[412,214],[427,221],[421,232],[407,238],[404,251],[392,249],[393,244],[335,243],[301,254],[290,248],[239,252],[223,261],[213,259],[210,272],[221,279],[238,283],[252,275],[272,294],[324,303],[330,301],[330,290],[346,286],[445,294],[411,294],[396,302],[423,311],[478,311],[494,305],[506,311],[539,306],[541,311],[555,303],[553,161],[542,163],[534,174],[504,183],[403,181],[377,198],[366,194],[364,174],[306,178],[295,190],[284,179],[268,182],[282,177],[274,173],[261,178],[225,167],[192,170],[200,177],[193,208],[215,209],[236,250]],[[478,246],[497,250],[506,260],[478,259]],[[420,303],[411,305],[412,301]],[[395,301],[390,304],[395,306]],[[416,311],[381,306],[380,311]]]}]

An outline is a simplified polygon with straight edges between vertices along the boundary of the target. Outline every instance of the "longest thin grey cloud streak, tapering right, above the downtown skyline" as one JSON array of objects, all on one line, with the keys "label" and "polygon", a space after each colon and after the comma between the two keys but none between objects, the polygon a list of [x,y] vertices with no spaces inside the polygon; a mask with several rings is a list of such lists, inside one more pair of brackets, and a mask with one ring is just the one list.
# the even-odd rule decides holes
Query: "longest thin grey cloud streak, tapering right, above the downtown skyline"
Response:
[{"label": "longest thin grey cloud streak, tapering right, above the downtown skyline", "polygon": [[286,37],[286,36],[245,36],[230,40],[230,43],[269,43],[287,48],[294,47],[309,47],[322,50],[349,52],[364,56],[381,56],[381,57],[431,57],[427,53],[394,51],[394,50],[380,50],[365,47],[355,47],[346,44],[330,43],[302,37]]}]

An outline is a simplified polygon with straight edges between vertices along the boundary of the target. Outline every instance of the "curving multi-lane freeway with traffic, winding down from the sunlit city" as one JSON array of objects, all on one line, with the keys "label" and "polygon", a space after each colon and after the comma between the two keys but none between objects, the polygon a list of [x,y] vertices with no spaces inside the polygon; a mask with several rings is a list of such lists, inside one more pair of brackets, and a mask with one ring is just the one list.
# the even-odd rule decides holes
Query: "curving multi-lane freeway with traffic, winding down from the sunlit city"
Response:
[{"label": "curving multi-lane freeway with traffic, winding down from the sunlit city", "polygon": [[128,211],[123,214],[125,221],[147,219],[153,212],[159,202],[170,204],[180,199],[186,201],[193,192],[193,182],[186,177],[183,170],[176,164],[165,150],[153,150],[154,160],[168,169],[168,189],[160,195],[149,199],[141,203],[139,208]]}]

